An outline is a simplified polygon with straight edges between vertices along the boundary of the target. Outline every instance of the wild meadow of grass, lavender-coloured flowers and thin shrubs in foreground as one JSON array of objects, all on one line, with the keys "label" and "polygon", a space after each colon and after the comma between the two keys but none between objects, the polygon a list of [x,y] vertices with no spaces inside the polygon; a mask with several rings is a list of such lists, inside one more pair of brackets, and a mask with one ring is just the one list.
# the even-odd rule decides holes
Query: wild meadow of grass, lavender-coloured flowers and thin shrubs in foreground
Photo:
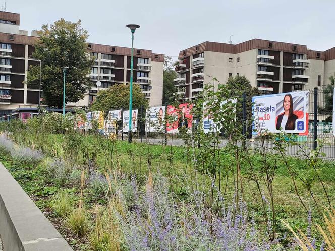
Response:
[{"label": "wild meadow of grass, lavender-coloured flowers and thin shrubs in foreground", "polygon": [[[249,148],[229,90],[204,99],[193,116],[205,101],[224,147],[199,128],[181,130],[183,146],[165,145],[164,134],[161,145],[128,143],[49,113],[0,123],[0,161],[74,250],[334,250],[326,142],[307,150],[266,134]],[[300,156],[286,154],[291,145]]]}]

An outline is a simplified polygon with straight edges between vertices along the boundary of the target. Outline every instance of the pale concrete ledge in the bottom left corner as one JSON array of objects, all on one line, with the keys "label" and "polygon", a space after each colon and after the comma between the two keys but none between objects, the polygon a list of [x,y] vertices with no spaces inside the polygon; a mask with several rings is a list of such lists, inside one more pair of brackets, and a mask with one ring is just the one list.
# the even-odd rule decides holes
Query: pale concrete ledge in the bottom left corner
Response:
[{"label": "pale concrete ledge in the bottom left corner", "polygon": [[1,163],[0,235],[4,251],[72,250]]}]

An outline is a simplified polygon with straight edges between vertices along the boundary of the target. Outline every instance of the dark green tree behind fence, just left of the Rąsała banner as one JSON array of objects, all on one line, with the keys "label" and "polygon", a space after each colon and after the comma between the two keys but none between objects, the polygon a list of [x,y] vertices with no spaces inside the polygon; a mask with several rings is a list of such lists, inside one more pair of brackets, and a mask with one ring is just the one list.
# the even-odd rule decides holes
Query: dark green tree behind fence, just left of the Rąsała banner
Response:
[{"label": "dark green tree behind fence, just left of the R\u0105sa\u0142a banner", "polygon": [[242,121],[243,119],[243,110],[242,110],[242,94],[243,92],[246,93],[246,109],[247,109],[247,126],[249,134],[251,133],[252,127],[252,97],[261,95],[261,92],[258,90],[257,87],[253,87],[250,84],[250,81],[245,76],[235,76],[234,78],[231,77],[226,82],[227,88],[231,92],[232,97],[237,97],[237,118],[238,120]]}]

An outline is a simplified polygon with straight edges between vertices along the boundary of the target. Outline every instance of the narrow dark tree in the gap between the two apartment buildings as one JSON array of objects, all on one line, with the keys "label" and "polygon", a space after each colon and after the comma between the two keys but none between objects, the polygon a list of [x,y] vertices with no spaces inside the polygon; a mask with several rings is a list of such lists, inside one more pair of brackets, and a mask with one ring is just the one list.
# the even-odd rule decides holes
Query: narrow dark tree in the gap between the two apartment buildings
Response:
[{"label": "narrow dark tree in the gap between the two apartment buildings", "polygon": [[173,68],[172,57],[164,56],[164,72],[163,72],[163,105],[173,101],[176,87],[174,79],[177,78],[177,73]]}]

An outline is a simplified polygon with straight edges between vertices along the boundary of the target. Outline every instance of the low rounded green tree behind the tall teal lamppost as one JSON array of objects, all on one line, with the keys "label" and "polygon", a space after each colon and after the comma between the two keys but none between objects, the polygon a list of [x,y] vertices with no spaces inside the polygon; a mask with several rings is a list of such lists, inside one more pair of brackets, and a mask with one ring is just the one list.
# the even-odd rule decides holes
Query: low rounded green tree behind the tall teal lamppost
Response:
[{"label": "low rounded green tree behind the tall teal lamppost", "polygon": [[[148,107],[148,100],[144,97],[138,84],[133,84],[133,109],[144,109]],[[92,110],[104,111],[129,109],[129,85],[113,85],[106,90],[101,90],[92,104]]]}]

